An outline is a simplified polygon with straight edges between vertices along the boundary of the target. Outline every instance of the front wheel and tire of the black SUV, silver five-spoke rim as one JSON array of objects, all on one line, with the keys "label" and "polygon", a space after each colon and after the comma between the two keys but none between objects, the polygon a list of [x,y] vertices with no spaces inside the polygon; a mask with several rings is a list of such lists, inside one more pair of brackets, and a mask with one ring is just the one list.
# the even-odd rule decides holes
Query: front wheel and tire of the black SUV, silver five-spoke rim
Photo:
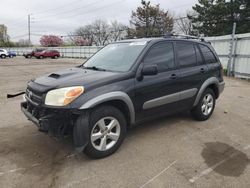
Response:
[{"label": "front wheel and tire of the black SUV, silver five-spoke rim", "polygon": [[126,129],[126,119],[120,110],[113,106],[97,107],[89,116],[89,141],[84,153],[95,159],[113,154],[122,144]]}]

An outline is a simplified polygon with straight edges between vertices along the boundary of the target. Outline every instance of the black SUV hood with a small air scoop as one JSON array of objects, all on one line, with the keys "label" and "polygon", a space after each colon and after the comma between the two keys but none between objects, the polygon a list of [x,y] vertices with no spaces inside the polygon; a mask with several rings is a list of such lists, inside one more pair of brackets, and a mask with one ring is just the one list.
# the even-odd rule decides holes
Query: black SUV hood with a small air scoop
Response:
[{"label": "black SUV hood with a small air scoop", "polygon": [[109,71],[94,71],[83,68],[69,68],[46,74],[28,83],[28,88],[37,92],[47,92],[51,89],[84,86],[90,87],[94,84],[102,84],[108,80],[115,79],[119,73]]}]

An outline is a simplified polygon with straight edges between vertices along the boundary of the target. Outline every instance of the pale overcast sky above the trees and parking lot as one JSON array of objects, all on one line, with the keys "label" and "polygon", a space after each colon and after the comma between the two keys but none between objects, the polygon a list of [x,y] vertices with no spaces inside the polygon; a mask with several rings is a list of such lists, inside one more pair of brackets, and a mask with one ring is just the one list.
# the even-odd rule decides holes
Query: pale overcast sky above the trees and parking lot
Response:
[{"label": "pale overcast sky above the trees and parking lot", "polygon": [[[131,11],[141,0],[4,0],[0,3],[0,24],[8,27],[11,40],[28,38],[27,17],[31,14],[32,34],[67,35],[79,26],[95,19],[117,20],[129,24]],[[152,4],[169,10],[173,15],[185,15],[197,0],[151,0]],[[39,36],[31,41],[38,44]]]}]

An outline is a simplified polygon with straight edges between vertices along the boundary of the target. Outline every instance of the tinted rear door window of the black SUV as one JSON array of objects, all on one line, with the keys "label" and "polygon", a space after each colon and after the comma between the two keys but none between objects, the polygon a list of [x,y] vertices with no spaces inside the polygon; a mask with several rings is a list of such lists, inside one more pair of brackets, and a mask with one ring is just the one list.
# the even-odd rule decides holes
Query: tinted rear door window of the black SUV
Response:
[{"label": "tinted rear door window of the black SUV", "polygon": [[193,43],[177,42],[176,51],[178,54],[180,67],[190,67],[197,65]]}]

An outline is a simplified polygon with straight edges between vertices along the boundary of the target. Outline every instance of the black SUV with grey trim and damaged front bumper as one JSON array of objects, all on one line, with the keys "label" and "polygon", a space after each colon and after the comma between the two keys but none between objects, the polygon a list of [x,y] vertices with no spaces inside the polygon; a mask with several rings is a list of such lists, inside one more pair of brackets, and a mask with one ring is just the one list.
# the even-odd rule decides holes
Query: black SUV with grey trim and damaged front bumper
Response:
[{"label": "black SUV with grey trim and damaged front bumper", "polygon": [[128,127],[146,120],[184,110],[208,119],[223,89],[222,65],[207,42],[132,39],[31,80],[21,109],[41,131],[72,133],[77,151],[101,158],[119,148]]}]

